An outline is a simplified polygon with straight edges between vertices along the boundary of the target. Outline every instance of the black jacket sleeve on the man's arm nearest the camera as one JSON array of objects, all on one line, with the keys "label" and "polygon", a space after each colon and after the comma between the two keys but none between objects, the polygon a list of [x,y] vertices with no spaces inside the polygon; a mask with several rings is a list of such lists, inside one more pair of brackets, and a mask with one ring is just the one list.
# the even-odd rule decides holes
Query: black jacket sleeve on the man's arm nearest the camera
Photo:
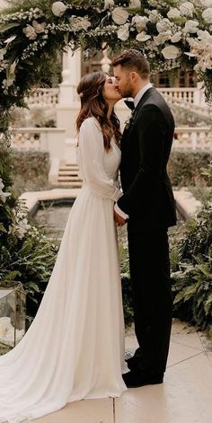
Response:
[{"label": "black jacket sleeve on the man's arm nearest the camera", "polygon": [[130,214],[137,205],[137,196],[146,194],[160,178],[163,171],[163,157],[167,123],[157,106],[146,105],[135,122],[133,136],[139,146],[139,167],[129,189],[118,200],[118,206]]}]

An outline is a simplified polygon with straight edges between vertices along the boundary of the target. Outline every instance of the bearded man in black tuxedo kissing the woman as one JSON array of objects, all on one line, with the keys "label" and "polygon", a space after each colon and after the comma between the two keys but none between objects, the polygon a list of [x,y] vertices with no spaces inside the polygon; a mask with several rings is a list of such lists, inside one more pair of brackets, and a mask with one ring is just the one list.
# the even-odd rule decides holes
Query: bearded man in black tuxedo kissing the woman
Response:
[{"label": "bearded man in black tuxedo kissing the woman", "polygon": [[119,225],[128,220],[129,269],[139,348],[123,375],[128,387],[163,383],[172,327],[172,291],[167,230],[176,225],[166,168],[174,120],[150,84],[150,68],[137,49],[112,61],[117,90],[133,97],[132,115],[121,139],[123,196],[115,206]]}]

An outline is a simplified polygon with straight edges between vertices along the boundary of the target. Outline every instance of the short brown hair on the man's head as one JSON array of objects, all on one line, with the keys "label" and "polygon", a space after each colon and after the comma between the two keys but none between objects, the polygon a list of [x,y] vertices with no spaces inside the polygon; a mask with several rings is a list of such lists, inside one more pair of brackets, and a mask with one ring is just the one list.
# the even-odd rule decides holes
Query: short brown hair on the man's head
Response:
[{"label": "short brown hair on the man's head", "polygon": [[142,79],[147,79],[150,76],[150,66],[146,57],[136,48],[129,48],[124,50],[119,56],[114,57],[112,66],[120,65],[130,71],[137,72]]}]

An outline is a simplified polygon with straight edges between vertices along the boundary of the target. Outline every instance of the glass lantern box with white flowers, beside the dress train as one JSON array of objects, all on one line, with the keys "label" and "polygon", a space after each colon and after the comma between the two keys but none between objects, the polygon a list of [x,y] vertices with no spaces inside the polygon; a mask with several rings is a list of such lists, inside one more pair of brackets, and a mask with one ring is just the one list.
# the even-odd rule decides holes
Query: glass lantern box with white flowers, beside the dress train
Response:
[{"label": "glass lantern box with white flowers, beside the dress train", "polygon": [[26,295],[21,282],[0,282],[0,354],[9,351],[25,333]]}]

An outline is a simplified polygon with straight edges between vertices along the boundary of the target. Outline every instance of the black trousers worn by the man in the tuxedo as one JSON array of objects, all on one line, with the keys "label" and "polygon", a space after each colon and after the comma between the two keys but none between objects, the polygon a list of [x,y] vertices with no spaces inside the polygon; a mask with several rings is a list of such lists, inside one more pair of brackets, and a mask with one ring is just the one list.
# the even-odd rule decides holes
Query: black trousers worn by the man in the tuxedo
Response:
[{"label": "black trousers worn by the man in the tuxedo", "polygon": [[165,371],[172,329],[172,289],[166,229],[130,232],[129,269],[133,285],[137,370]]}]

